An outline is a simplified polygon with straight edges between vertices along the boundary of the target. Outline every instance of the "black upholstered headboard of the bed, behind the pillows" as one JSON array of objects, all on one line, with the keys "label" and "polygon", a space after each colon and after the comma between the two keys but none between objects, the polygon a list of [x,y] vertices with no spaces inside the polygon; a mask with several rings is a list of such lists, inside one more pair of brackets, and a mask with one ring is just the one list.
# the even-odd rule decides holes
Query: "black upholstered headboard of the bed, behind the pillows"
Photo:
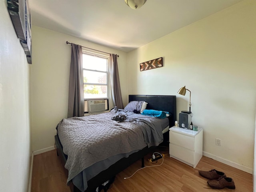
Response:
[{"label": "black upholstered headboard of the bed, behind the pillows", "polygon": [[170,127],[176,121],[176,95],[129,95],[130,101],[145,101],[148,103],[146,109],[154,109],[169,112]]}]

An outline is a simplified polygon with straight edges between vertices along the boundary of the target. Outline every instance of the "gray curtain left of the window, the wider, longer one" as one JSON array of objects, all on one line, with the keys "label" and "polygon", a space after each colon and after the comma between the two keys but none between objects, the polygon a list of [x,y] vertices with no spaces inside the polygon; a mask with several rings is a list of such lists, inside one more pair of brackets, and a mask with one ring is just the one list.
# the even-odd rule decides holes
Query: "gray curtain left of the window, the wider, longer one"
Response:
[{"label": "gray curtain left of the window, the wider, longer one", "polygon": [[82,46],[72,43],[71,49],[68,92],[68,118],[84,116]]}]

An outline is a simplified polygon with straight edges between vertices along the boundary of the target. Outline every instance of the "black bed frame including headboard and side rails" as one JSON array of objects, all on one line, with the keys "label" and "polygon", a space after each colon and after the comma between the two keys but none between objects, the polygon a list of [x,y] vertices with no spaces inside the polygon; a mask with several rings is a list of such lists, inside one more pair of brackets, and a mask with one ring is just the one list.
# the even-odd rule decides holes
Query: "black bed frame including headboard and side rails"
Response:
[{"label": "black bed frame including headboard and side rails", "polygon": [[[130,101],[145,101],[148,103],[146,109],[154,109],[154,110],[162,110],[170,113],[169,118],[169,126],[174,126],[174,122],[176,120],[176,96],[166,96],[166,95],[129,95]],[[164,134],[164,146],[168,146],[169,144],[169,133],[166,132]],[[61,158],[63,166],[66,164],[66,160],[68,156],[63,153],[63,147],[60,143],[60,139],[58,135],[55,136],[55,146],[57,149],[57,155]],[[126,169],[128,166],[133,164],[138,160],[142,160],[142,167],[144,167],[144,156],[151,152],[152,148],[143,148],[142,150],[131,154],[128,158],[122,158],[108,169],[100,172],[94,178],[90,179],[87,184],[88,188],[85,192],[95,192],[96,188],[100,186],[102,183],[106,182],[113,178],[116,174]],[[65,168],[64,168],[65,169]],[[66,176],[68,177],[68,170],[65,169]],[[81,192],[76,186],[70,182],[70,189],[72,192]]]}]

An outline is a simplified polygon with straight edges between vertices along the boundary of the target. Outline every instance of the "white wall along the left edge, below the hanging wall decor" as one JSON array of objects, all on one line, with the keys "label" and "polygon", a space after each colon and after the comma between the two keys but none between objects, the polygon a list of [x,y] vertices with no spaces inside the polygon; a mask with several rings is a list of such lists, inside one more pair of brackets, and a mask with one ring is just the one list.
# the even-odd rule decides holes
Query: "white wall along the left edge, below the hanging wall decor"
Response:
[{"label": "white wall along the left edge, below the hanging wall decor", "polygon": [[30,170],[29,64],[0,0],[0,191],[27,192]]}]

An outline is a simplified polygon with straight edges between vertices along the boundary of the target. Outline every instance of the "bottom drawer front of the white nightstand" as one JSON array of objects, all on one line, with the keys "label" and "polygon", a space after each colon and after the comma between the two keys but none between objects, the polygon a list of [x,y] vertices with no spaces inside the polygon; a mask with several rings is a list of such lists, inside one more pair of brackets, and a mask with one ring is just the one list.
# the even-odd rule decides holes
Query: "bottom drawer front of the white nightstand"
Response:
[{"label": "bottom drawer front of the white nightstand", "polygon": [[170,144],[170,155],[194,164],[194,152],[185,148]]}]

